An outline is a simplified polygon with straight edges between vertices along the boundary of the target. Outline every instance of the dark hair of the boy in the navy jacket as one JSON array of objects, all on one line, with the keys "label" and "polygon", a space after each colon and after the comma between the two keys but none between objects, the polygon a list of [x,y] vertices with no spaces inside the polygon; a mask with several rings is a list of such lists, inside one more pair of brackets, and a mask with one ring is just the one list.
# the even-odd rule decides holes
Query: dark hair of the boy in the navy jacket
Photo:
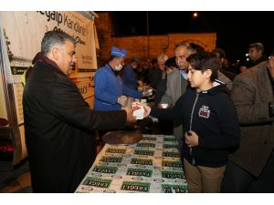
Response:
[{"label": "dark hair of the boy in the navy jacket", "polygon": [[190,65],[195,70],[201,70],[202,73],[206,69],[212,71],[210,80],[213,82],[218,77],[218,69],[220,68],[219,58],[210,52],[201,51],[195,54],[192,54],[186,58]]}]

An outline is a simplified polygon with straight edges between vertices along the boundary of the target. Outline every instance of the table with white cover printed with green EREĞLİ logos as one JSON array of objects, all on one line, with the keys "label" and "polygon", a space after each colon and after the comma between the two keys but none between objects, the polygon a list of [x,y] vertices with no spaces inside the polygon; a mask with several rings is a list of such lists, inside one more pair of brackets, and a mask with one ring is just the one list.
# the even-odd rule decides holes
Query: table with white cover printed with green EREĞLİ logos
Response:
[{"label": "table with white cover printed with green ERE\u011eL\u0130 logos", "polygon": [[177,146],[174,136],[145,134],[136,144],[106,144],[75,192],[188,192]]}]

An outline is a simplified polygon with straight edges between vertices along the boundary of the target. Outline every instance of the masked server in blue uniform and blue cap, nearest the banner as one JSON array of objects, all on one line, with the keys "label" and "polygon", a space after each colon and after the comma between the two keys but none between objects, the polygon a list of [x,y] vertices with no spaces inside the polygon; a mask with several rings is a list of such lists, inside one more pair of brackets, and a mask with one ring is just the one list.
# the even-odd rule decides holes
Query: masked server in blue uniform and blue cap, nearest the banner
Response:
[{"label": "masked server in blue uniform and blue cap, nearest the banner", "polygon": [[111,47],[111,58],[108,64],[100,67],[94,76],[95,110],[119,110],[125,106],[127,97],[141,98],[142,93],[126,87],[119,76],[124,65],[125,49]]}]

